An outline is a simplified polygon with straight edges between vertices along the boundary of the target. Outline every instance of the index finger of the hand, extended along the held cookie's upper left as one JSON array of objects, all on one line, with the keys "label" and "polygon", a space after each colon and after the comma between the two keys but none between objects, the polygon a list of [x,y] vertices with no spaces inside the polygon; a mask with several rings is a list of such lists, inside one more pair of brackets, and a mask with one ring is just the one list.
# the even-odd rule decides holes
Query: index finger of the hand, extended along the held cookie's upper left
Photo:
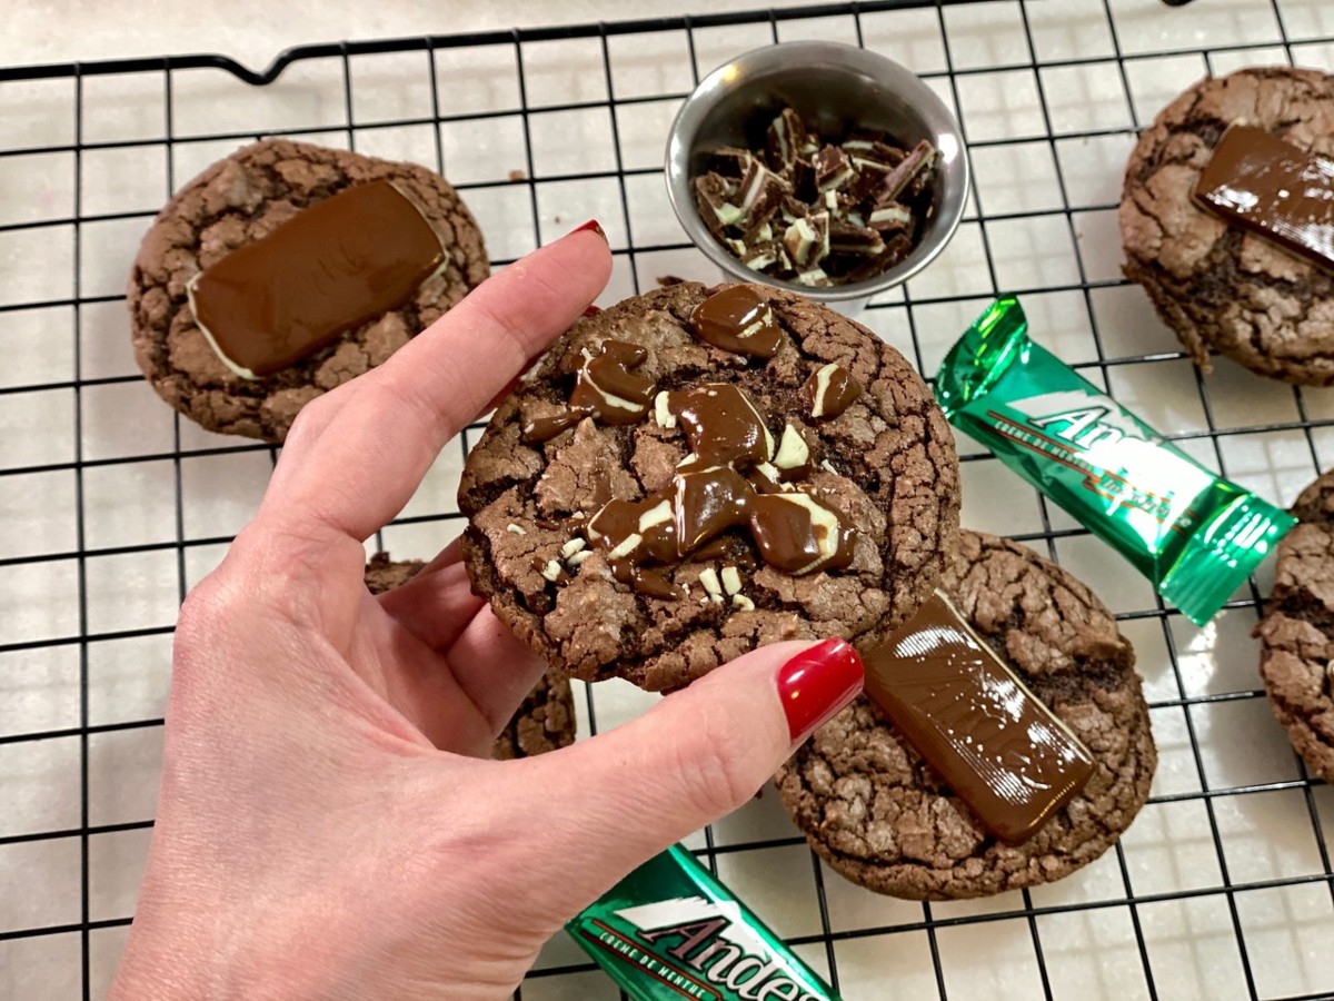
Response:
[{"label": "index finger of the hand, extended along the held cookie's upper left", "polygon": [[309,404],[342,403],[313,436],[297,420],[259,518],[299,538],[372,535],[403,510],[440,448],[579,318],[610,275],[606,238],[580,228],[488,278],[342,400],[335,392]]}]

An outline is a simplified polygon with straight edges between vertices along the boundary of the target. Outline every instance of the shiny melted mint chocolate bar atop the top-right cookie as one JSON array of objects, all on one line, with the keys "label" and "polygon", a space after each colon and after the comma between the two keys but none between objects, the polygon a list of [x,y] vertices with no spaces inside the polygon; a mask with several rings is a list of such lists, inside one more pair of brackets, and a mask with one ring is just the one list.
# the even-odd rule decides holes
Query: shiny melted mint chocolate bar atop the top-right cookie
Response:
[{"label": "shiny melted mint chocolate bar atop the top-right cookie", "polygon": [[1195,200],[1225,222],[1334,271],[1334,160],[1253,125],[1223,132]]}]

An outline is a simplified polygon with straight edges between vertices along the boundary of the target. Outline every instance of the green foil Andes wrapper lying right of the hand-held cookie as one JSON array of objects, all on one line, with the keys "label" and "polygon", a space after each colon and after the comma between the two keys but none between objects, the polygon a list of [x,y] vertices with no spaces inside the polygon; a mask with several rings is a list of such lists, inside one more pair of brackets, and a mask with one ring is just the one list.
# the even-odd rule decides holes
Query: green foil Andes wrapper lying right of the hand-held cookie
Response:
[{"label": "green foil Andes wrapper lying right of the hand-held cookie", "polygon": [[1203,626],[1295,519],[1189,458],[1027,331],[1017,299],[968,328],[936,376],[944,415]]}]

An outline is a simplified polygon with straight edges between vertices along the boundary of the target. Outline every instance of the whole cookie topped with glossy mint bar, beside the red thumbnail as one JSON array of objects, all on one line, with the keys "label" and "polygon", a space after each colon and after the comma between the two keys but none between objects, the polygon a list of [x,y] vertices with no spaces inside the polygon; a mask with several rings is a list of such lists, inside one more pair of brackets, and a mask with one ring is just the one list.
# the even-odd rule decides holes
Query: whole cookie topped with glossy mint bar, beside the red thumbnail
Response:
[{"label": "whole cookie topped with glossy mint bar, beside the red thumbnail", "polygon": [[866,694],[779,771],[783,805],[830,866],[879,893],[1061,878],[1149,795],[1158,754],[1134,650],[1079,581],[994,535],[960,534],[940,590],[862,651]]}]

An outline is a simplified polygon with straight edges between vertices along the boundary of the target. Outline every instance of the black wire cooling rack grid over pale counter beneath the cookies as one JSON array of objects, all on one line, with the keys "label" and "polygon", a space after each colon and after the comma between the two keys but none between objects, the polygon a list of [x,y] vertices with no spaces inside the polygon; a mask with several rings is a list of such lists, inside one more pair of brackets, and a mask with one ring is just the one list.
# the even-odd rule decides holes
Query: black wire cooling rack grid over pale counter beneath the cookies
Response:
[{"label": "black wire cooling rack grid over pale counter beneath the cookies", "polygon": [[[315,45],[264,72],[219,56],[0,69],[0,343],[13,363],[0,375],[0,994],[105,988],[152,826],[175,605],[276,460],[181,420],[133,370],[104,272],[124,275],[161,198],[237,143],[284,133],[434,165],[478,214],[494,267],[596,214],[616,258],[603,302],[663,274],[712,280],[660,194],[666,123],[714,64],[794,37],[883,51],[960,111],[964,224],[862,318],[924,374],[994,294],[1019,292],[1035,336],[1225,475],[1289,503],[1331,463],[1331,394],[1226,363],[1198,375],[1121,279],[1115,232],[1135,129],[1206,69],[1327,65],[1321,0],[884,0]],[[376,59],[394,73],[371,85]],[[64,190],[55,164],[69,211],[48,198]],[[99,187],[116,170],[128,202]],[[430,557],[458,534],[458,471],[480,427],[368,549]],[[1334,795],[1257,686],[1245,634],[1266,571],[1195,630],[986,450],[960,438],[960,455],[964,523],[1071,567],[1139,651],[1162,763],[1135,825],[1059,884],[956,904],[843,882],[772,793],[690,846],[847,998],[1334,997]],[[582,735],[647,698],[584,687]],[[515,996],[618,994],[554,940]]]}]

